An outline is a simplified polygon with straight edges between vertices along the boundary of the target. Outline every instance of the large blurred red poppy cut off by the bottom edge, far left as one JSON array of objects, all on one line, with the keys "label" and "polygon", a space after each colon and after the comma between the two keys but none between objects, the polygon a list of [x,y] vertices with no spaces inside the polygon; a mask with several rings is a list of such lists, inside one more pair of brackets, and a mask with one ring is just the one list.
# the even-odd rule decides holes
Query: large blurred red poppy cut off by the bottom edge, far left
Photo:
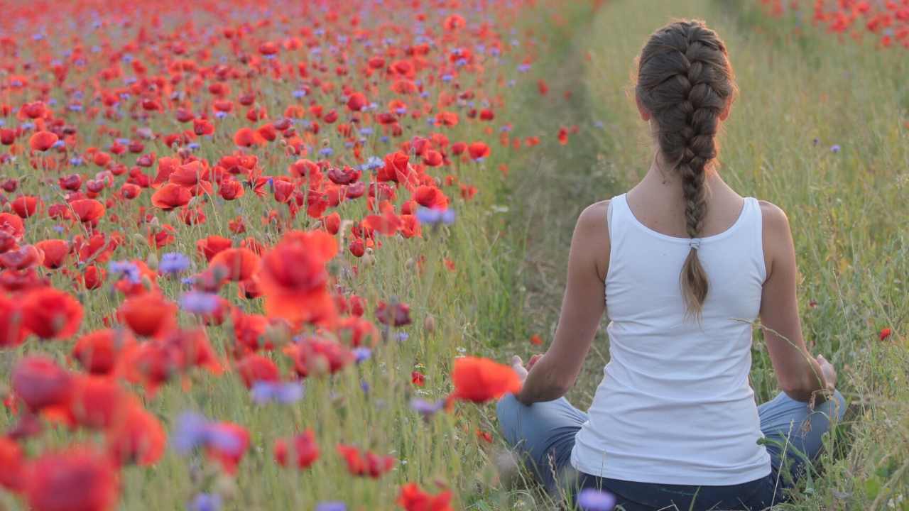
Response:
[{"label": "large blurred red poppy cut off by the bottom edge, far left", "polygon": [[108,511],[118,475],[107,456],[87,447],[46,453],[26,466],[23,495],[34,511]]}]

